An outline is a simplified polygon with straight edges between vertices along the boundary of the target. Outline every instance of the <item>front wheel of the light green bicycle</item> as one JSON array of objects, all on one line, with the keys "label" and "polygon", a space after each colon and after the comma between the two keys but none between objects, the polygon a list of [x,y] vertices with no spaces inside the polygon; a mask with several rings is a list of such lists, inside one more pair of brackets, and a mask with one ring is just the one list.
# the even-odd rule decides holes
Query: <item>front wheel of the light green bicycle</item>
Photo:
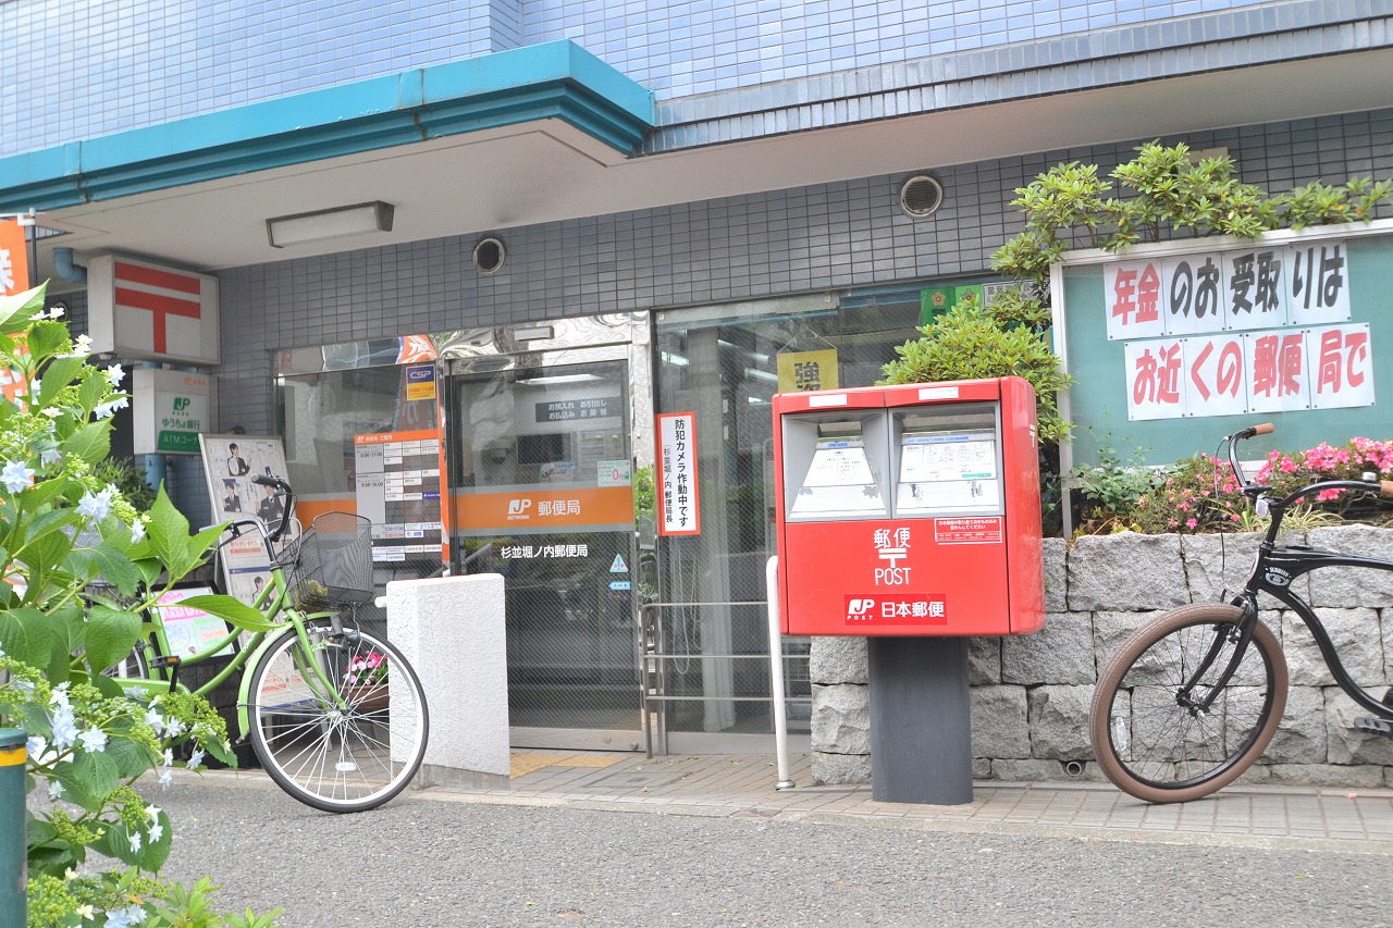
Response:
[{"label": "front wheel of the light green bicycle", "polygon": [[252,673],[252,747],[270,778],[326,812],[382,805],[421,768],[429,719],[421,681],[401,652],[329,620],[279,637]]}]

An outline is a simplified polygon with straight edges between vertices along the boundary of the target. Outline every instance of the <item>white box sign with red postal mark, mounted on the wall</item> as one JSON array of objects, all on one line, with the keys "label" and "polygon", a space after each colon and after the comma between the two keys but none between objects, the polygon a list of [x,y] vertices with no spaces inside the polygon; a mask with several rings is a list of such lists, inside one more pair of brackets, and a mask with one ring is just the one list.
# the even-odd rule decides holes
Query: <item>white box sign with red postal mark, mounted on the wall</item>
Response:
[{"label": "white box sign with red postal mark, mounted on the wall", "polygon": [[98,255],[88,259],[88,314],[99,354],[221,362],[216,277]]}]

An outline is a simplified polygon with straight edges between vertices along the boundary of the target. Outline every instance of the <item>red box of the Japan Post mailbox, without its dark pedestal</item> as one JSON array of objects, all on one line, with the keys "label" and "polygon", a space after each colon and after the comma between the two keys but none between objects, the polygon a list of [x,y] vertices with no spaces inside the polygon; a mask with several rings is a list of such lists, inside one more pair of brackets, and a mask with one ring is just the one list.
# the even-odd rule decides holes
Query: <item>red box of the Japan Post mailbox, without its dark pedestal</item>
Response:
[{"label": "red box of the Japan Post mailbox, without its dark pedestal", "polygon": [[1028,382],[783,393],[773,415],[786,634],[1004,635],[1045,624]]}]

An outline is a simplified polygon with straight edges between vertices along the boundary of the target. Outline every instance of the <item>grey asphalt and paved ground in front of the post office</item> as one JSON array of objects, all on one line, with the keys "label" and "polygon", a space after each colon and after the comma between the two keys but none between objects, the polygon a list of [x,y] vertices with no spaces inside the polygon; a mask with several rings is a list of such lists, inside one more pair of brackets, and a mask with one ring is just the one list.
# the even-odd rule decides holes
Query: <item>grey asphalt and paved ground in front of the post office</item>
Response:
[{"label": "grey asphalt and paved ground in front of the post office", "polygon": [[529,757],[507,789],[357,815],[255,772],[181,775],[149,787],[174,822],[164,875],[212,875],[219,908],[280,907],[286,928],[1393,924],[1389,790],[1148,807],[979,783],[970,805],[908,807],[775,791],[759,758]]}]

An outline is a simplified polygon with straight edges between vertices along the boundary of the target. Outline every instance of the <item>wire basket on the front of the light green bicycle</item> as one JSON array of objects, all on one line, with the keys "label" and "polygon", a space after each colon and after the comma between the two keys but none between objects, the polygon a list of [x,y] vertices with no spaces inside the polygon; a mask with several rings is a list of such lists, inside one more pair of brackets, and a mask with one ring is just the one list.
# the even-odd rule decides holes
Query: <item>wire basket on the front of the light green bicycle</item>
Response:
[{"label": "wire basket on the front of the light green bicycle", "polygon": [[277,560],[299,612],[347,609],[373,599],[372,523],[361,516],[316,516]]}]

